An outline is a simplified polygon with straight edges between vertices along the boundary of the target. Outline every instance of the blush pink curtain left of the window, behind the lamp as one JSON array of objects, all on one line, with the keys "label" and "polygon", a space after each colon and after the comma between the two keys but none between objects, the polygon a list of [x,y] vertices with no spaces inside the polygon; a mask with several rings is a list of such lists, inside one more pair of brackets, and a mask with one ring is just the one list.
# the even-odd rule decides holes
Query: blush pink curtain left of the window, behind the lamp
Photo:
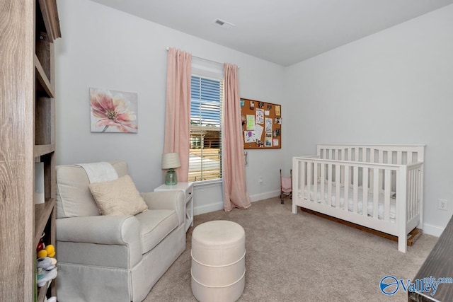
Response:
[{"label": "blush pink curtain left of the window, behind the lamp", "polygon": [[167,64],[164,153],[177,152],[179,154],[181,167],[176,168],[178,181],[187,182],[192,56],[182,50],[170,48]]}]

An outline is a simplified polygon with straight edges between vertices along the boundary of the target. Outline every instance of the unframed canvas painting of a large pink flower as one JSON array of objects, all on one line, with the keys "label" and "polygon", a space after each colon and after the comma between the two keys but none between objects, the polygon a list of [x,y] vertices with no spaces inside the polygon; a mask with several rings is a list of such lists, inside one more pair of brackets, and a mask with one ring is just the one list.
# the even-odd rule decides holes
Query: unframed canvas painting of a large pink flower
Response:
[{"label": "unframed canvas painting of a large pink flower", "polygon": [[91,132],[137,133],[137,93],[90,88]]}]

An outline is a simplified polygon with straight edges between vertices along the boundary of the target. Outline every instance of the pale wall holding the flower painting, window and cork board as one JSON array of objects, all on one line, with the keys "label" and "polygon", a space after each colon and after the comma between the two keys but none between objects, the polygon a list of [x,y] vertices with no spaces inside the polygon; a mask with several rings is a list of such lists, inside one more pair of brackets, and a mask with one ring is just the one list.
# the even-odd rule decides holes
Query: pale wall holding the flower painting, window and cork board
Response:
[{"label": "pale wall holding the flower painting, window and cork board", "polygon": [[[60,0],[58,8],[62,38],[55,42],[57,164],[125,159],[139,190],[161,185],[166,47],[239,65],[241,96],[282,103],[285,113],[282,66],[92,1]],[[138,93],[138,134],[91,133],[90,87]],[[280,190],[282,150],[250,151],[249,160],[247,187],[252,199]],[[263,185],[258,175],[263,176]],[[219,184],[206,190],[195,189],[195,214],[223,208]]]}]

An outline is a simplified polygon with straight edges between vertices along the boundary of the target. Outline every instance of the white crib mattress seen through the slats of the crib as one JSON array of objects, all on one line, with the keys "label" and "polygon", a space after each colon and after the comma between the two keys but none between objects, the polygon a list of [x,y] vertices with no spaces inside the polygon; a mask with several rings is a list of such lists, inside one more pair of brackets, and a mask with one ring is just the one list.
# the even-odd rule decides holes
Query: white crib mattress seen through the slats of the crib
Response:
[{"label": "white crib mattress seen through the slats of the crib", "polygon": [[[310,200],[313,202],[314,201],[314,192],[313,192],[314,187],[311,187],[311,192],[310,192]],[[363,214],[363,187],[359,186],[357,187],[357,214]],[[321,200],[321,185],[318,185],[317,188],[317,200],[318,203],[324,203],[328,205],[328,185],[324,185],[324,196],[323,200]],[[336,184],[332,183],[332,197],[331,197],[331,207],[336,207]],[[305,189],[305,197],[308,195],[307,190]],[[393,193],[391,194],[393,195]],[[354,211],[354,188],[349,187],[348,190],[348,210],[349,211]],[[367,200],[367,216],[373,217],[373,192],[368,190],[368,200]],[[345,187],[340,186],[340,208],[344,209],[344,204],[345,204]],[[377,217],[378,219],[384,219],[384,190],[379,191],[379,198],[378,198],[378,207],[377,207]],[[396,218],[396,199],[390,198],[390,221],[394,222]]]}]

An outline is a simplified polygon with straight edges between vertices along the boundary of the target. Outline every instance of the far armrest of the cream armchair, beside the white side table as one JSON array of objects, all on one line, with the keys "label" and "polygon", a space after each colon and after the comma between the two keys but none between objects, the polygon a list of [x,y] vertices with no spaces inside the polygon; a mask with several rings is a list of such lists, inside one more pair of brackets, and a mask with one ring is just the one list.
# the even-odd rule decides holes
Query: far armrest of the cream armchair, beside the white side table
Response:
[{"label": "far armrest of the cream armchair, beside the white side table", "polygon": [[175,210],[178,216],[178,226],[185,223],[185,200],[182,191],[159,191],[140,194],[149,209]]}]

